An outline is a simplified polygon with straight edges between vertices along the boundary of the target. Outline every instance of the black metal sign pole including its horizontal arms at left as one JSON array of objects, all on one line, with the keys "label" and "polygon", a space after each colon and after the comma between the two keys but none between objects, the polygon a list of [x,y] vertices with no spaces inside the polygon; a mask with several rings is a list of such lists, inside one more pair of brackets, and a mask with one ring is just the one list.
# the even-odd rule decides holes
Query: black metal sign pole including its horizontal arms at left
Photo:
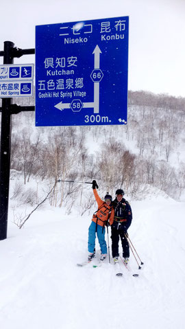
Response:
[{"label": "black metal sign pole including its horizontal arms at left", "polygon": [[[14,57],[27,54],[35,54],[35,49],[20,49],[14,47],[11,41],[4,42],[3,64],[13,64]],[[12,98],[3,98],[1,111],[1,151],[0,151],[0,240],[7,238],[8,227],[8,200],[10,185],[10,155],[11,155],[11,133],[12,114],[21,111],[35,111],[35,106],[18,106],[12,104]]]}]

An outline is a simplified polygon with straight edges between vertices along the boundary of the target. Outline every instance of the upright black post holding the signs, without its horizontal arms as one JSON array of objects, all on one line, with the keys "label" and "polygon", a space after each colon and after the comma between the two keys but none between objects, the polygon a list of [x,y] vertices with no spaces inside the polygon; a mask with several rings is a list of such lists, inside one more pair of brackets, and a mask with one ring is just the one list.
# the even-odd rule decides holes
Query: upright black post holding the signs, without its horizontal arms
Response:
[{"label": "upright black post holding the signs, without its horizontal arms", "polygon": [[[4,42],[3,64],[12,64],[14,43]],[[2,99],[1,110],[1,154],[0,154],[0,240],[7,237],[8,198],[10,181],[10,145],[11,145],[11,104],[12,98]]]}]

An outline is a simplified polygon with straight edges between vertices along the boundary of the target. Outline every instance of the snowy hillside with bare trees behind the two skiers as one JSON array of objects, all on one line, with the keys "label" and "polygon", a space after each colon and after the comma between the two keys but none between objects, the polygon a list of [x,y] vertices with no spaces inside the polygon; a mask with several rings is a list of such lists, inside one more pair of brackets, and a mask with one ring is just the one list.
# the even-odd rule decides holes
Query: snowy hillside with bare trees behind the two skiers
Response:
[{"label": "snowy hillside with bare trees behind the two skiers", "polygon": [[[34,98],[13,103],[33,105]],[[97,179],[104,190],[121,187],[130,198],[142,198],[151,186],[179,200],[185,188],[184,115],[184,98],[145,91],[129,91],[126,126],[36,128],[34,113],[19,113],[12,120],[12,170],[23,174],[25,185],[33,177],[51,184]],[[79,185],[60,184],[51,203],[61,206],[77,192]]]}]

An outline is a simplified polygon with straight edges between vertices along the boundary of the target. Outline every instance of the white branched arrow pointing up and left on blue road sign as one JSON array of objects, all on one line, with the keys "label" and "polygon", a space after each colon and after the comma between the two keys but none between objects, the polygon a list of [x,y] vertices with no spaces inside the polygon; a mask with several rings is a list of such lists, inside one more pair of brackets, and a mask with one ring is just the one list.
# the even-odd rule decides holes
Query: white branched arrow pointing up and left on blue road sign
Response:
[{"label": "white branched arrow pointing up and left on blue road sign", "polygon": [[[95,64],[94,69],[99,69],[99,60],[101,50],[99,49],[99,45],[96,45],[93,54],[95,55]],[[58,110],[63,111],[64,109],[70,109],[71,103],[58,103],[54,105]],[[99,82],[94,82],[94,102],[85,102],[82,103],[84,109],[92,108],[94,109],[94,113],[99,113]]]}]

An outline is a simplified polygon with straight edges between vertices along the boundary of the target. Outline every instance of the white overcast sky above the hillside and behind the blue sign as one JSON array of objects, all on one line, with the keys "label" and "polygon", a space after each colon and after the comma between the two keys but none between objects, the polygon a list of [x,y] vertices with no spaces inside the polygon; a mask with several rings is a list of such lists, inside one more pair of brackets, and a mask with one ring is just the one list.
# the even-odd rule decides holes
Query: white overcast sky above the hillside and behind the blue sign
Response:
[{"label": "white overcast sky above the hillside and behind the blue sign", "polygon": [[185,0],[0,0],[0,12],[0,50],[34,48],[35,25],[130,16],[129,89],[185,97]]}]

